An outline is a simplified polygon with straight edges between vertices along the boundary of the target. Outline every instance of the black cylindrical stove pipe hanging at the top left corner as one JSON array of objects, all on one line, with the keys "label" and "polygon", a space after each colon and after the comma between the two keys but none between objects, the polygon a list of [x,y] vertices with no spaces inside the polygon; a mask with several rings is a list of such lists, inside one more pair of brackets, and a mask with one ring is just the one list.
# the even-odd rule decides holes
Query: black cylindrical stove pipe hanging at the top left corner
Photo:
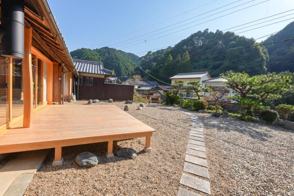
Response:
[{"label": "black cylindrical stove pipe hanging at the top left corner", "polygon": [[1,1],[1,56],[24,58],[24,0]]}]

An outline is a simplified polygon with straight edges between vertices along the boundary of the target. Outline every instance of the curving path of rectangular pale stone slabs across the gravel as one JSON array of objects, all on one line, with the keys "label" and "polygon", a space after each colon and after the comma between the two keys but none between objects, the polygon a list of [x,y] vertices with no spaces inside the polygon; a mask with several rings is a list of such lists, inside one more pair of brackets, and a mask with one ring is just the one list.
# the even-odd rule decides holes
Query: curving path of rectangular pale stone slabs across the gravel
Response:
[{"label": "curving path of rectangular pale stone slabs across the gravel", "polygon": [[[179,109],[171,110],[182,111]],[[189,135],[185,163],[180,183],[197,191],[211,195],[205,143],[203,138],[203,124],[193,113],[184,113],[190,116],[193,120],[193,125]],[[199,178],[194,177],[195,175],[199,176]],[[201,195],[203,195],[203,193]],[[199,196],[199,194],[179,188],[178,196]]]}]

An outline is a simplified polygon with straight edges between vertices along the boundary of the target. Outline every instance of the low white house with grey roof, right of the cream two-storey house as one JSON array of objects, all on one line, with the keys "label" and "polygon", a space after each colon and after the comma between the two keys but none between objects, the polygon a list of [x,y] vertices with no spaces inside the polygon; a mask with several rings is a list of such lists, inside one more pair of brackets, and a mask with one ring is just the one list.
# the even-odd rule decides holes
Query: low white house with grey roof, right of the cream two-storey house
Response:
[{"label": "low white house with grey roof, right of the cream two-storey house", "polygon": [[[234,96],[235,93],[233,91],[233,89],[228,88],[225,86],[224,82],[226,82],[227,80],[221,77],[215,77],[215,78],[211,78],[208,80],[203,80],[203,87],[208,87],[210,89],[212,89],[213,91],[225,91],[226,93],[228,93],[229,96]],[[204,95],[209,96],[210,93],[209,92],[205,92]]]}]

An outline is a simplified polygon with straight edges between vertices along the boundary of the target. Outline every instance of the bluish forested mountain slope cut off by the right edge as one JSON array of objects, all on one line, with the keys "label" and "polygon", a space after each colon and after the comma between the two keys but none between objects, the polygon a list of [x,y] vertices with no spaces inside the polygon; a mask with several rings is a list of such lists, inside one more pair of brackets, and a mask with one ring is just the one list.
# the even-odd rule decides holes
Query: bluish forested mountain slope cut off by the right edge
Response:
[{"label": "bluish forested mountain slope cut off by the right edge", "polygon": [[[294,21],[285,26],[283,31],[268,37],[262,43],[294,38],[293,31]],[[294,41],[265,45],[265,48],[267,48],[268,54],[270,55],[269,62],[266,66],[269,72],[283,72],[287,70],[294,72]]]}]

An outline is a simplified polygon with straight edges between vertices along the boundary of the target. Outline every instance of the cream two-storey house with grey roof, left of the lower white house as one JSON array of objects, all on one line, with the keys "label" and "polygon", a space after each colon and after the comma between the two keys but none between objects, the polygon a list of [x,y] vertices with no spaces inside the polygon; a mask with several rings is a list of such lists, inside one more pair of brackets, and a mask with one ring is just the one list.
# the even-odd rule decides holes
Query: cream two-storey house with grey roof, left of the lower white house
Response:
[{"label": "cream two-storey house with grey roof, left of the lower white house", "polygon": [[[184,85],[182,90],[179,93],[183,94],[183,97],[193,97],[196,93],[194,92],[185,92],[185,88],[191,85],[188,85],[188,82],[191,80],[200,81],[211,79],[211,76],[208,72],[192,72],[192,73],[178,73],[177,75],[170,77],[171,84],[175,84],[177,80],[183,80]],[[169,91],[172,91],[173,87],[168,87]]]}]

